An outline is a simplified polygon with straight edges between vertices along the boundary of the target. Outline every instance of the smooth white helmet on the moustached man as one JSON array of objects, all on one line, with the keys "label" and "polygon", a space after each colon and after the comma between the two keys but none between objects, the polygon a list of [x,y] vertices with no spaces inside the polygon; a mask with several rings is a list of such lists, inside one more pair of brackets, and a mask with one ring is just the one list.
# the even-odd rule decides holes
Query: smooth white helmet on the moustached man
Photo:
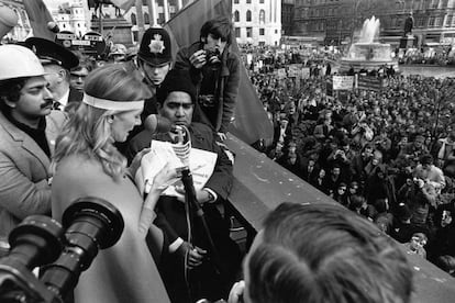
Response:
[{"label": "smooth white helmet on the moustached man", "polygon": [[0,80],[44,74],[40,59],[31,49],[13,44],[0,45]]}]

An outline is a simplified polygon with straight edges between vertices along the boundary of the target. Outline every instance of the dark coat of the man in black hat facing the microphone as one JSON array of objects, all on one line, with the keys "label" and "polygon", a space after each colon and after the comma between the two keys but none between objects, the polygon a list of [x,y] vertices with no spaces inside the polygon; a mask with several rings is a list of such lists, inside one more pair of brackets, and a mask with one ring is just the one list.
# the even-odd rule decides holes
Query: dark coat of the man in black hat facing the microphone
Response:
[{"label": "dark coat of the man in black hat facing the microphone", "polygon": [[[217,153],[217,164],[212,176],[206,183],[206,188],[214,191],[219,198],[219,202],[223,202],[232,188],[233,175],[232,164],[229,160],[225,153],[220,148],[215,142],[212,130],[201,123],[191,123],[189,127],[191,146],[195,148]],[[144,131],[136,135],[130,142],[130,155],[134,156],[143,148],[151,146],[152,138],[158,141],[170,141],[169,134],[155,134],[152,135],[147,131]],[[165,245],[169,245],[176,242],[178,237],[187,240],[188,227],[185,213],[185,203],[177,201],[174,197],[162,197],[158,200],[157,218],[155,224],[159,226],[165,235]],[[203,203],[202,210],[207,220],[207,225],[210,234],[213,238],[214,245],[220,254],[223,266],[225,267],[225,281],[221,282],[213,274],[210,262],[204,262],[198,269],[198,277],[191,277],[192,281],[198,281],[201,284],[198,294],[196,296],[207,298],[210,300],[220,299],[220,294],[224,292],[225,282],[232,285],[234,272],[240,268],[241,255],[237,245],[229,236],[229,226],[225,224],[220,214],[215,203]],[[198,247],[209,249],[210,246],[207,242],[204,228],[201,227],[200,221],[195,218],[192,226],[193,244]],[[163,251],[160,262],[162,277],[166,282],[166,287],[169,290],[169,295],[173,298],[173,302],[189,302],[186,293],[186,283],[184,277],[184,265],[179,262],[175,254],[166,249]],[[195,274],[195,273],[192,273]],[[217,298],[218,295],[218,298]]]}]

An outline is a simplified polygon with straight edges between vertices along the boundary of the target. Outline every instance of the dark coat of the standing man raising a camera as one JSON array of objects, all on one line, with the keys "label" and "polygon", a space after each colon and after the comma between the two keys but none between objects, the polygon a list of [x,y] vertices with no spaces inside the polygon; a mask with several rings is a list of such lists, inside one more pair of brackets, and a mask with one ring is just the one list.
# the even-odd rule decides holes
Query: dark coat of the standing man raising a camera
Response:
[{"label": "dark coat of the standing man raising a camera", "polygon": [[[175,69],[186,69],[189,70],[192,82],[198,88],[198,94],[200,90],[200,83],[202,81],[203,72],[202,69],[196,69],[191,66],[189,61],[190,56],[199,50],[202,49],[202,45],[200,42],[193,43],[190,46],[182,47],[176,57]],[[215,100],[218,101],[218,113],[215,125],[212,125],[214,130],[219,133],[228,133],[229,125],[234,116],[235,111],[235,102],[237,99],[238,87],[240,87],[240,69],[241,69],[241,60],[238,56],[231,52],[230,49],[225,49],[222,56],[222,66],[219,70],[219,78],[218,78],[218,91],[215,91]],[[199,109],[200,110],[200,109]],[[196,110],[197,113],[202,114],[199,110]],[[203,122],[204,119],[201,119]]]}]

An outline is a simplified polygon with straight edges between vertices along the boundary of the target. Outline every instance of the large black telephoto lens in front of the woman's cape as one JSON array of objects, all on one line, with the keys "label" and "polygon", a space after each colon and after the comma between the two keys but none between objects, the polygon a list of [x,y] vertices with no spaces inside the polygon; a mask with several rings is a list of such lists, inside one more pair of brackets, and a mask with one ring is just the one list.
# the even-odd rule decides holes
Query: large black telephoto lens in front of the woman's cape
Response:
[{"label": "large black telephoto lens in front of the woman's cape", "polygon": [[64,213],[67,245],[60,257],[43,268],[41,281],[60,298],[71,291],[99,249],[113,246],[122,235],[120,212],[106,200],[88,197],[76,200]]}]

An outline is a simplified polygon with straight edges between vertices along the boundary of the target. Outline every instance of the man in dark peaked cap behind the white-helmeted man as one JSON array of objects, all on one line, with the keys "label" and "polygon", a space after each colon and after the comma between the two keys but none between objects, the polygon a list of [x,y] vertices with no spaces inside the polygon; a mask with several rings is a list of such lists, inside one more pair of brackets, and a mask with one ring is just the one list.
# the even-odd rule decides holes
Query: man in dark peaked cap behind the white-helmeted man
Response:
[{"label": "man in dark peaked cap behind the white-helmeted man", "polygon": [[82,101],[82,92],[70,86],[69,71],[79,65],[79,58],[71,50],[41,37],[30,37],[24,45],[36,54],[44,67],[54,96],[54,109],[65,110],[68,103]]}]

